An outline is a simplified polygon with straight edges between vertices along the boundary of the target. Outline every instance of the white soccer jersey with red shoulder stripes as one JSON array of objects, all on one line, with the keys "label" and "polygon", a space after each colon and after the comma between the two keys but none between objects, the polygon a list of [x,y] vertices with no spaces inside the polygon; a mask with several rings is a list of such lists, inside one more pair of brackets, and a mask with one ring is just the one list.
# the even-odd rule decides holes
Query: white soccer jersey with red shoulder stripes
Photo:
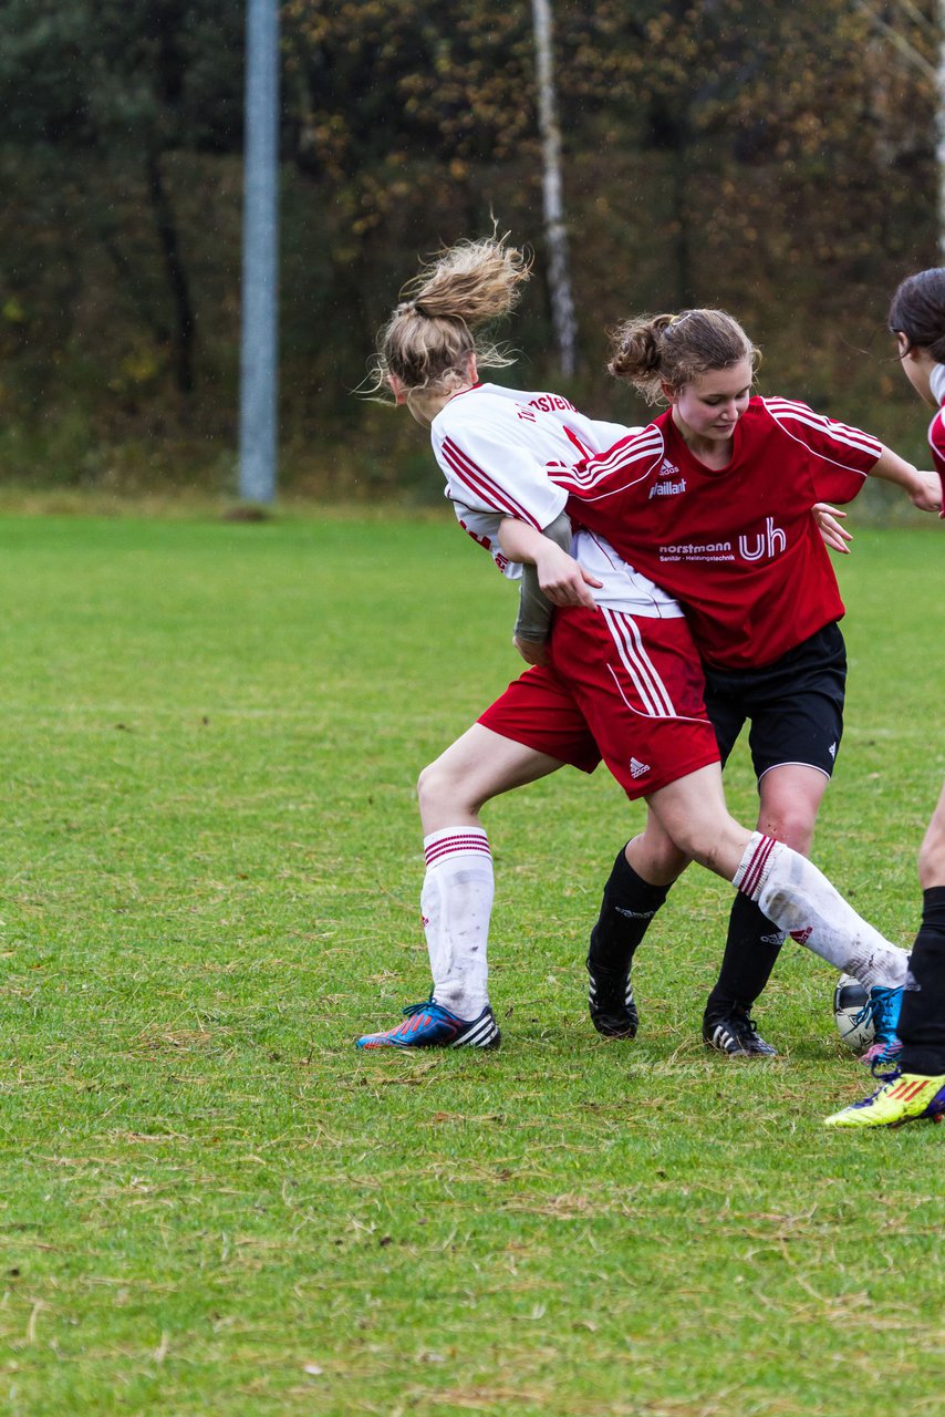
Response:
[{"label": "white soccer jersey with red shoulder stripes", "polygon": [[[517,517],[544,530],[567,500],[551,475],[636,431],[587,418],[560,394],[476,384],[436,414],[431,439],[459,524],[514,580],[521,567],[502,554],[497,540],[502,519]],[[670,595],[622,561],[604,537],[579,533],[572,555],[604,581],[604,589],[594,591],[598,605],[629,615],[683,614]]]}]

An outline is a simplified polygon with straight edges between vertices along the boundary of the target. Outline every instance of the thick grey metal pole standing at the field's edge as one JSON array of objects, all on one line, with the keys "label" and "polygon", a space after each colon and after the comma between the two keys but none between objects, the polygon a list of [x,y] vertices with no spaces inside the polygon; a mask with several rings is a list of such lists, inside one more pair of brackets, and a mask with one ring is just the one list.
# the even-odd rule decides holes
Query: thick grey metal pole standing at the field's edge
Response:
[{"label": "thick grey metal pole standing at the field's edge", "polygon": [[276,495],[279,7],[248,0],[239,357],[239,496]]}]

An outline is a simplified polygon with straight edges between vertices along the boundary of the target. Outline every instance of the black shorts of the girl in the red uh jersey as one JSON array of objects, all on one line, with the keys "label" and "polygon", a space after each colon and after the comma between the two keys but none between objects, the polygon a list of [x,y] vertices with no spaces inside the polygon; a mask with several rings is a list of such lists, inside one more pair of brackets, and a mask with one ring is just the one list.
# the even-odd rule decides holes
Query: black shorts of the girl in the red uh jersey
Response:
[{"label": "black shorts of the girl in the red uh jersey", "polygon": [[846,645],[836,622],[764,669],[707,665],[706,708],[723,762],[749,718],[748,745],[759,781],[789,762],[830,777],[843,735],[846,679]]}]

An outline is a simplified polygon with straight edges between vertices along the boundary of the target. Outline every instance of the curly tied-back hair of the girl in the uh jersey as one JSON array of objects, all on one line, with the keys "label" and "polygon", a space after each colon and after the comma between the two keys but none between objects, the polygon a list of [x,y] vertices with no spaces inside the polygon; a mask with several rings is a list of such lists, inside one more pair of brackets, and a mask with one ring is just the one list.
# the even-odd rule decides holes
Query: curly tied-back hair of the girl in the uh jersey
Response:
[{"label": "curly tied-back hair of the girl in the uh jersey", "polygon": [[611,332],[608,370],[633,384],[647,402],[663,400],[662,385],[681,388],[708,370],[747,359],[752,376],[761,360],[738,320],[725,310],[638,315]]}]

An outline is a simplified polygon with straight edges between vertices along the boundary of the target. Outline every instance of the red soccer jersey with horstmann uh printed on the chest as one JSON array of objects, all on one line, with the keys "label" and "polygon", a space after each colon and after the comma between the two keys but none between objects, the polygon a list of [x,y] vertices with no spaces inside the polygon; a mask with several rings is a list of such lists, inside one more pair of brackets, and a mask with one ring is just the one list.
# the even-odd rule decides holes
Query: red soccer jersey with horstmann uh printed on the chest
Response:
[{"label": "red soccer jersey with horstmann uh printed on the chest", "polygon": [[870,434],[806,404],[752,398],[721,470],[693,456],[667,410],[551,476],[575,523],[683,602],[708,663],[747,669],[843,615],[810,507],[856,497],[880,453]]}]

